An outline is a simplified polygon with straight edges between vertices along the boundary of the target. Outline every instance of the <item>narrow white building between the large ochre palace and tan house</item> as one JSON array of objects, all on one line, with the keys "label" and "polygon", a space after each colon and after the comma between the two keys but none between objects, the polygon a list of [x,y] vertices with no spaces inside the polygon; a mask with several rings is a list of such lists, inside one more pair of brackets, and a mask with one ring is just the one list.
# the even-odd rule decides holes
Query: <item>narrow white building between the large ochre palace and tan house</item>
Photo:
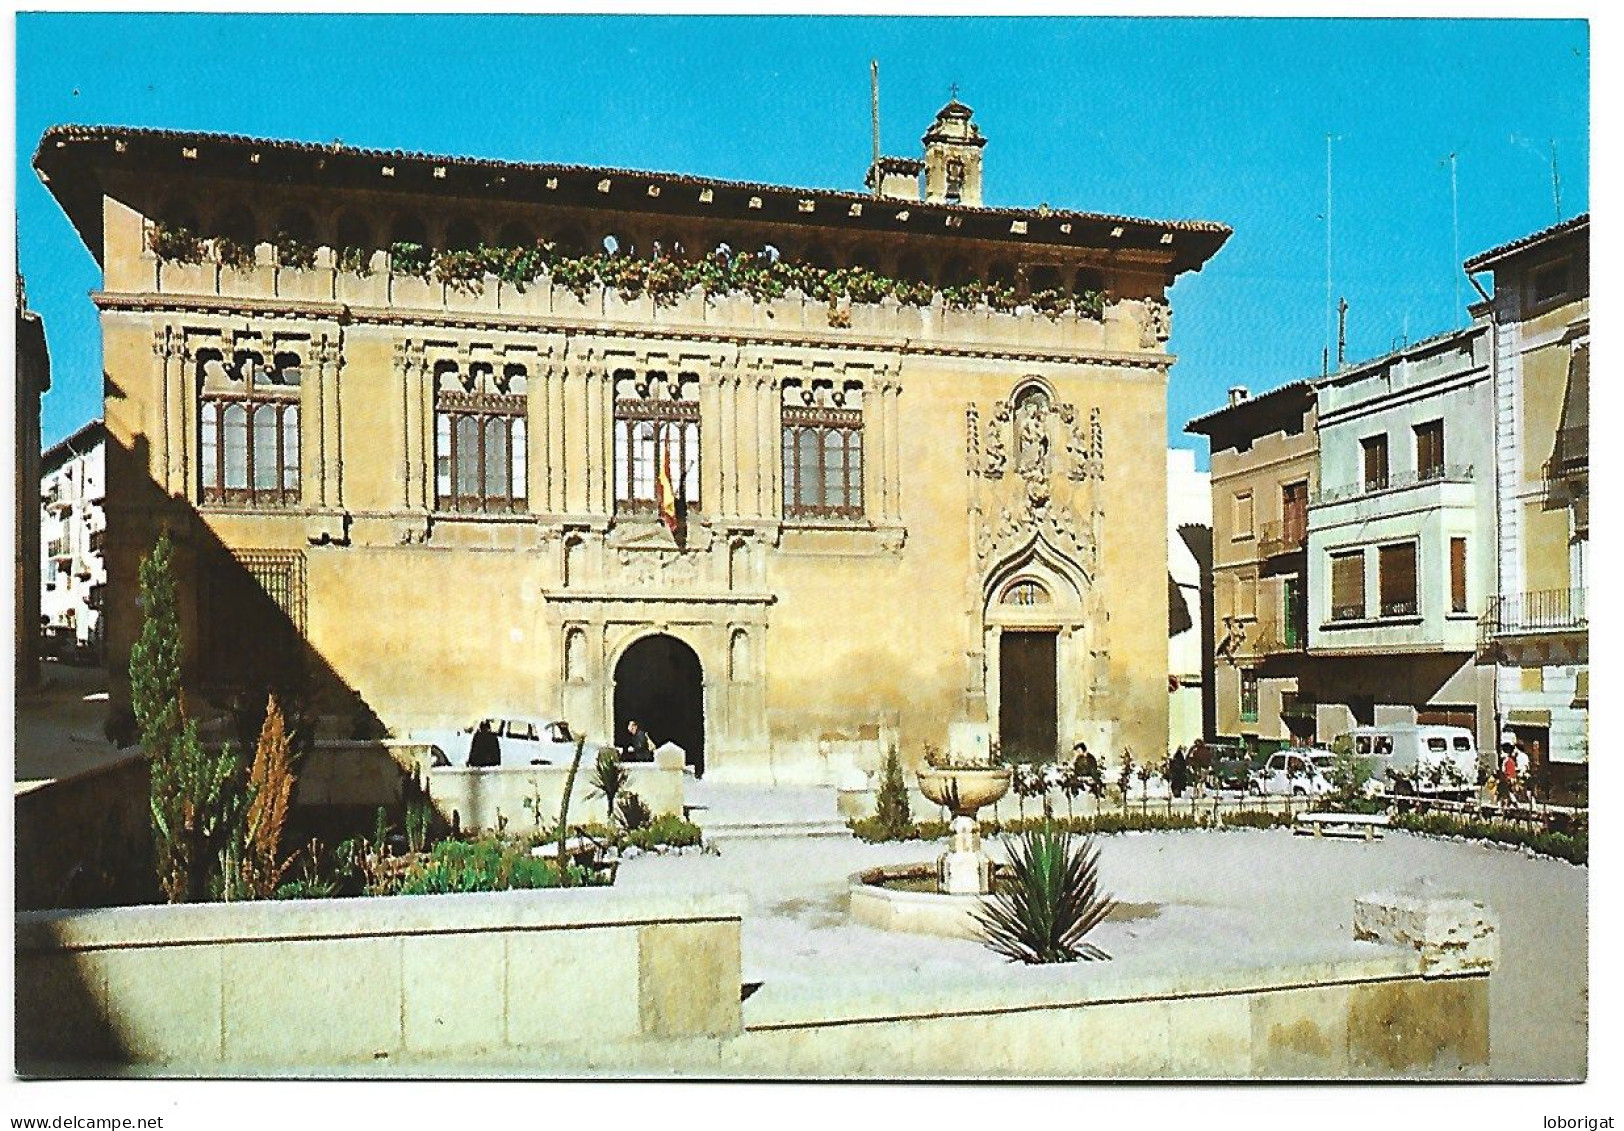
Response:
[{"label": "narrow white building between the large ochre palace and tan house", "polygon": [[1168,450],[1168,749],[1207,734],[1212,653],[1205,647],[1212,588],[1212,474],[1195,452]]}]

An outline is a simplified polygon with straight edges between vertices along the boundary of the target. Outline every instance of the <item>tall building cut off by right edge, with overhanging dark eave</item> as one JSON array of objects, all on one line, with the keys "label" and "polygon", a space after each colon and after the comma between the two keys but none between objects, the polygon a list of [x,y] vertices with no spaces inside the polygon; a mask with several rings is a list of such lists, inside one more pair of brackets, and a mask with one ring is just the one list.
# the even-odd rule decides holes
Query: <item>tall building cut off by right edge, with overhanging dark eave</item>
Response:
[{"label": "tall building cut off by right edge, with overhanging dark eave", "polygon": [[1590,216],[1465,270],[1492,275],[1481,309],[1494,333],[1499,556],[1479,648],[1504,736],[1572,793],[1590,764]]}]

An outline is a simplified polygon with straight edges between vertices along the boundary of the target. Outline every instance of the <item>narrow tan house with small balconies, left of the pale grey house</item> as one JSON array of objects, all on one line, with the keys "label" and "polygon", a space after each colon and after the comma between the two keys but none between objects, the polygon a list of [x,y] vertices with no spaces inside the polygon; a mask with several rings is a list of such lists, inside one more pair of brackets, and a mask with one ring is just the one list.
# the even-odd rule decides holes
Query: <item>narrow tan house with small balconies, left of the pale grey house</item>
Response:
[{"label": "narrow tan house with small balconies, left of the pale grey house", "polygon": [[1309,497],[1319,484],[1307,380],[1199,416],[1212,447],[1213,728],[1260,748],[1314,738],[1304,715]]}]

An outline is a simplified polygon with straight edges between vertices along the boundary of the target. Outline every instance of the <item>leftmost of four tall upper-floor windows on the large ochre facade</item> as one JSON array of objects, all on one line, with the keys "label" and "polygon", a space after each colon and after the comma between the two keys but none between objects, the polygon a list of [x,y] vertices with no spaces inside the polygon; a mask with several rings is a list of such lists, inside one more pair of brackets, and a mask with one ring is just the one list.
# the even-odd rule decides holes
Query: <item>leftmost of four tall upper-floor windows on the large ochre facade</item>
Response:
[{"label": "leftmost of four tall upper-floor windows on the large ochre facade", "polygon": [[[270,353],[270,364],[266,364]],[[198,474],[216,505],[299,504],[300,358],[289,348],[198,351]]]}]

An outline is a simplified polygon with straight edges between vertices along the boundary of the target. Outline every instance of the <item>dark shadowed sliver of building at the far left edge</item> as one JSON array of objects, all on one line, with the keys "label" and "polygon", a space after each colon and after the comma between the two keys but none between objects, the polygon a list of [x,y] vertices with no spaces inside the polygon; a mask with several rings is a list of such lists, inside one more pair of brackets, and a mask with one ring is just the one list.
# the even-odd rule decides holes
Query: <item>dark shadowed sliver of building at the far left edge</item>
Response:
[{"label": "dark shadowed sliver of building at the far left edge", "polygon": [[16,614],[13,663],[19,687],[39,681],[39,398],[50,388],[50,351],[45,346],[45,323],[28,309],[23,276],[16,276],[16,370],[13,372],[13,440],[11,473],[16,492],[16,556],[11,583]]}]

